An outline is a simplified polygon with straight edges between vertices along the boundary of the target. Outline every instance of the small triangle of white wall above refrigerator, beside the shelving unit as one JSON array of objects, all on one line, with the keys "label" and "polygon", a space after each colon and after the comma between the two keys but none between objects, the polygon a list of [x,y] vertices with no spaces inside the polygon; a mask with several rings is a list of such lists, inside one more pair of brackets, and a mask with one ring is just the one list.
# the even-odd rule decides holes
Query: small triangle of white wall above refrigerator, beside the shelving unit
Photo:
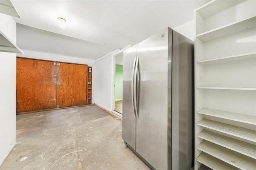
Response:
[{"label": "small triangle of white wall above refrigerator, beside the shelving unit", "polygon": [[178,33],[184,35],[185,37],[188,37],[192,41],[195,41],[194,37],[194,20],[188,21],[182,25],[179,25],[178,27],[173,28],[174,31],[177,31]]}]

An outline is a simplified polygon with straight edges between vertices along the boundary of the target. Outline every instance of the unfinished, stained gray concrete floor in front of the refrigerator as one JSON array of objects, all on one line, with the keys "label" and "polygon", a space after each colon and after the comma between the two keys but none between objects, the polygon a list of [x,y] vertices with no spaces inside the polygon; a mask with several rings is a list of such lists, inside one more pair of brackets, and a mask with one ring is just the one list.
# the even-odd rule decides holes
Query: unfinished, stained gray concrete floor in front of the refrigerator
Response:
[{"label": "unfinished, stained gray concrete floor in front of the refrigerator", "polygon": [[122,121],[97,106],[17,116],[1,170],[149,170],[122,140]]}]

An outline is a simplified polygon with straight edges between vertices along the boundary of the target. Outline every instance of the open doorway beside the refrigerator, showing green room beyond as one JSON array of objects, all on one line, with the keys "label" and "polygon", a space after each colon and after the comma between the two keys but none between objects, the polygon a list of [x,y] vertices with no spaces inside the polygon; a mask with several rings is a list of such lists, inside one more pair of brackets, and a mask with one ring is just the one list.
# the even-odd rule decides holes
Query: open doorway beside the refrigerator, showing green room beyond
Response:
[{"label": "open doorway beside the refrigerator, showing green room beyond", "polygon": [[114,99],[115,106],[114,111],[122,114],[123,109],[123,53],[115,56],[115,88],[114,88]]}]

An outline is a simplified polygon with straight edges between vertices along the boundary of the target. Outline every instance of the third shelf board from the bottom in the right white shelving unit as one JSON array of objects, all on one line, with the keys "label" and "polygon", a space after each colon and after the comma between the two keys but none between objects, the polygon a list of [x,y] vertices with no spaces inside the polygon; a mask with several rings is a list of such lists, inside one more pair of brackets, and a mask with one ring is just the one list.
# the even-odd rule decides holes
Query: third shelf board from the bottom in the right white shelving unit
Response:
[{"label": "third shelf board from the bottom in the right white shelving unit", "polygon": [[200,133],[198,133],[196,136],[206,141],[215,143],[227,149],[234,150],[238,153],[241,153],[256,159],[256,145],[252,145],[250,143],[246,143],[243,141],[239,141],[237,139],[226,137],[224,135],[207,131],[205,129]]}]

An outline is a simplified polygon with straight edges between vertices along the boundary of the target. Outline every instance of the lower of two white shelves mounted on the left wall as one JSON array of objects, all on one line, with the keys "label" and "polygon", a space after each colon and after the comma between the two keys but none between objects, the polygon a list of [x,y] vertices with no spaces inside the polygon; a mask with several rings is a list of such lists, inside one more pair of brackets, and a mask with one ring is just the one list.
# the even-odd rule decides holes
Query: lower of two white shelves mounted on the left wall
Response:
[{"label": "lower of two white shelves mounted on the left wall", "polygon": [[0,51],[24,54],[2,31],[0,31]]}]

